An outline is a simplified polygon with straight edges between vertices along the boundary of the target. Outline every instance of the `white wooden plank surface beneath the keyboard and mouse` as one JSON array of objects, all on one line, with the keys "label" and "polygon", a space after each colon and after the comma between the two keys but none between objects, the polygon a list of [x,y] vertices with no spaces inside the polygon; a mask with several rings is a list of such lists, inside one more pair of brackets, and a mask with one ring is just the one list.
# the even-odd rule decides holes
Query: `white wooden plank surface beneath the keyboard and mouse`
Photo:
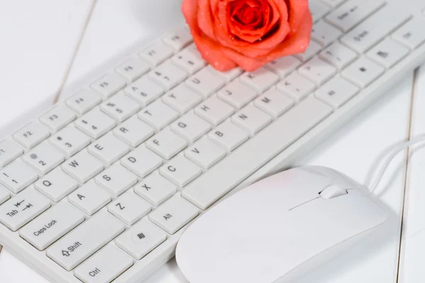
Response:
[{"label": "white wooden plank surface beneath the keyboard and mouse", "polygon": [[[3,3],[0,1],[0,5]],[[22,114],[34,110],[34,105],[39,105],[35,109],[40,110],[41,103],[52,103],[62,83],[65,87],[71,85],[107,61],[111,54],[118,54],[132,43],[182,21],[181,0],[99,0],[71,65],[91,1],[11,3],[8,2],[8,6],[13,5],[8,12],[0,8],[0,97],[2,101],[11,101],[0,104],[0,137],[8,129],[6,125],[16,117],[25,118]],[[25,7],[23,12],[18,13],[19,7]],[[6,45],[4,38],[8,39]],[[68,68],[69,76],[66,76]],[[64,78],[67,79],[64,81]],[[425,67],[418,71],[415,79],[414,74],[404,74],[397,88],[370,105],[295,166],[329,166],[363,182],[383,149],[407,139],[410,134],[425,133],[424,109]],[[398,265],[399,282],[425,281],[425,270],[421,268],[425,257],[425,150],[417,149],[411,152],[409,162],[405,153],[399,154],[378,188],[380,199],[398,219],[392,233],[385,237],[385,245],[353,250],[308,275],[303,282],[396,282]],[[4,249],[0,253],[0,282],[47,281]],[[186,280],[175,260],[171,260],[146,282],[183,283]]]}]

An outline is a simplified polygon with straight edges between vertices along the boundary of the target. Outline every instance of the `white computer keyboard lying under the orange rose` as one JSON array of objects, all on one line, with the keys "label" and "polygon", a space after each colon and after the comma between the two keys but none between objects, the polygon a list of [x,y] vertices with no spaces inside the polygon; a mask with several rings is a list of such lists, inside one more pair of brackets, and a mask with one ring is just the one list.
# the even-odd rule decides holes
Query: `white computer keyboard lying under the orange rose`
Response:
[{"label": "white computer keyboard lying under the orange rose", "polygon": [[310,6],[304,54],[219,73],[182,27],[1,137],[0,243],[52,282],[141,282],[212,204],[425,60],[421,0]]}]

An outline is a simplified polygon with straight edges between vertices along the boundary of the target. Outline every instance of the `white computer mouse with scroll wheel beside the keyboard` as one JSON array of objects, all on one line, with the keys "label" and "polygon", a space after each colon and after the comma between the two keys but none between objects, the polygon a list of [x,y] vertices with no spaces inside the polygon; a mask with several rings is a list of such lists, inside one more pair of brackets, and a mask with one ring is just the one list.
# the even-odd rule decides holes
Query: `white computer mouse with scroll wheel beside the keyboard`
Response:
[{"label": "white computer mouse with scroll wheel beside the keyboard", "polygon": [[385,223],[387,208],[319,166],[260,180],[186,229],[176,261],[191,283],[295,282]]}]

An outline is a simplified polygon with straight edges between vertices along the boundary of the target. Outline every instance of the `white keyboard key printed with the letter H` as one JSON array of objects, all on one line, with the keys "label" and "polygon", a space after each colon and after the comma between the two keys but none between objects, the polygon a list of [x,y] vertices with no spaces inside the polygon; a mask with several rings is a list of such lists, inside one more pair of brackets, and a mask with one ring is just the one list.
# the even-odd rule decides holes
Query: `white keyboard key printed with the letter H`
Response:
[{"label": "white keyboard key printed with the letter H", "polygon": [[196,115],[213,125],[219,125],[234,113],[234,108],[216,96],[212,96],[195,108]]}]

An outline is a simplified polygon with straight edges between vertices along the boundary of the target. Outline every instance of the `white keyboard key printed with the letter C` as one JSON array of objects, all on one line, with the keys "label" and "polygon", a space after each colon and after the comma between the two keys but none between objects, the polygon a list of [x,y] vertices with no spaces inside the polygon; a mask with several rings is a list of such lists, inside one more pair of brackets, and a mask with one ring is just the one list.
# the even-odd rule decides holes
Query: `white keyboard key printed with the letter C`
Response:
[{"label": "white keyboard key printed with the letter C", "polygon": [[198,177],[202,171],[192,161],[179,155],[159,168],[159,173],[179,187],[184,187]]}]

